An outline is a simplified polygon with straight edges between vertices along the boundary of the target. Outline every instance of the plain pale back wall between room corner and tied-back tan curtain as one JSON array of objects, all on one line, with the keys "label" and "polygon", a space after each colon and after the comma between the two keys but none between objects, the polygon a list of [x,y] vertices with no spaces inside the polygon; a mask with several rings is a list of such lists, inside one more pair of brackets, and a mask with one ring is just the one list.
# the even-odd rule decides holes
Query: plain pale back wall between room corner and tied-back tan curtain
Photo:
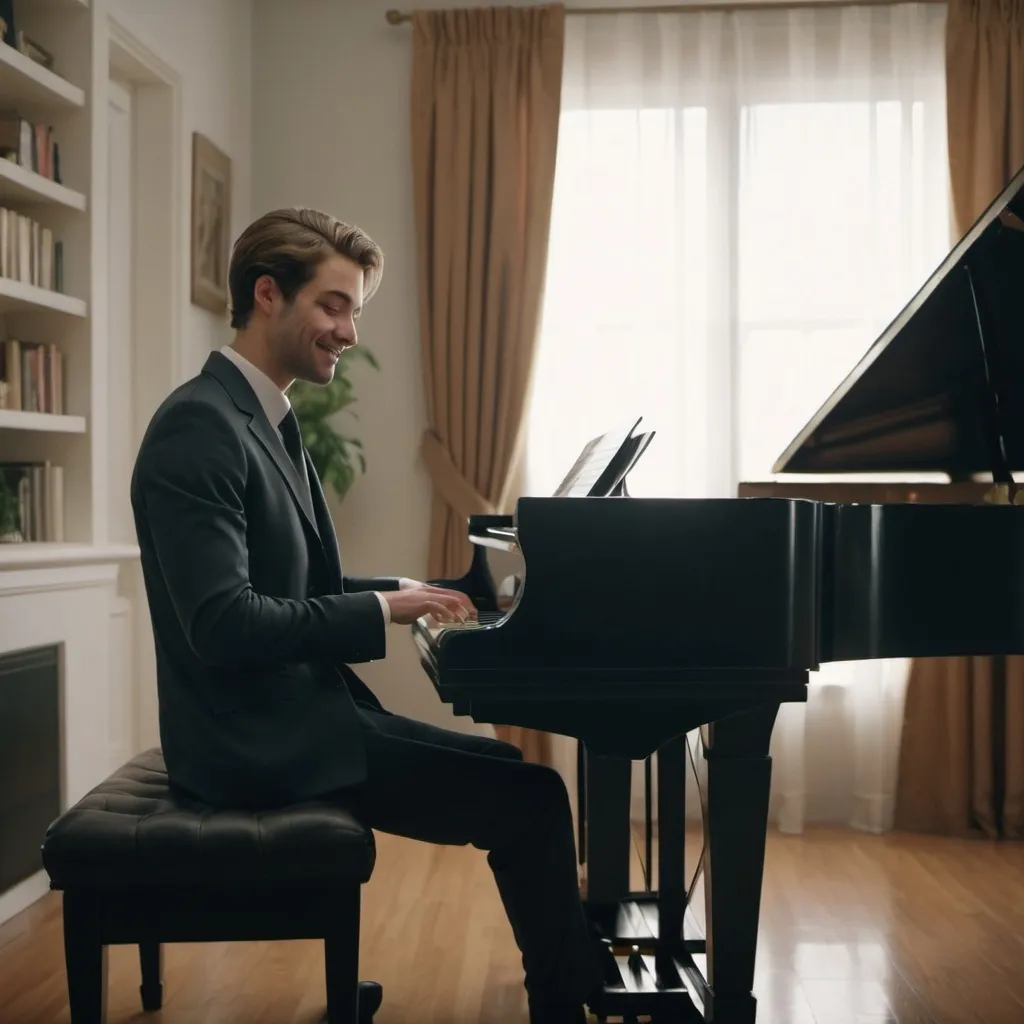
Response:
[{"label": "plain pale back wall between room corner and tied-back tan curtain", "polygon": [[[384,20],[395,5],[254,0],[253,211],[319,207],[357,223],[384,249],[382,289],[359,329],[381,362],[380,373],[357,371],[354,426],[368,474],[332,511],[346,572],[423,579],[430,486],[418,453],[426,413],[409,138],[412,35],[409,26]],[[385,706],[475,729],[438,700],[408,628],[391,630],[387,658],[358,668]]]}]

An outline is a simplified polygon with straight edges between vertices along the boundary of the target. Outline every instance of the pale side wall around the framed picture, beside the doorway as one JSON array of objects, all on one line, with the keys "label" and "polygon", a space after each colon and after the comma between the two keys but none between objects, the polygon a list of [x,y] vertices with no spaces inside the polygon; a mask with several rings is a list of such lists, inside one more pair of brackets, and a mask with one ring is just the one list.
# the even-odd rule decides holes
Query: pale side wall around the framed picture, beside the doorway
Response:
[{"label": "pale side wall around the framed picture, beside the doorway", "polygon": [[231,158],[231,238],[250,219],[252,5],[250,0],[106,0],[110,14],[181,77],[183,262],[181,351],[188,377],[211,348],[230,339],[226,317],[194,306],[188,295],[191,134],[202,132]]}]

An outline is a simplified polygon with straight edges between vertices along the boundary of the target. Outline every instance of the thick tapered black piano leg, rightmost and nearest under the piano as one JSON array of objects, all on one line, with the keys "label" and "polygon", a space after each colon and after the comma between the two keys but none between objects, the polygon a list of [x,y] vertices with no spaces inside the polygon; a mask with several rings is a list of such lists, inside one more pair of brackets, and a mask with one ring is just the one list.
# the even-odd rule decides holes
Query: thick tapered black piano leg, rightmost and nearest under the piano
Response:
[{"label": "thick tapered black piano leg, rightmost and nearest under the piano", "polygon": [[768,827],[768,745],[778,705],[707,727],[705,901],[708,983],[705,1019],[754,1024],[754,961]]}]

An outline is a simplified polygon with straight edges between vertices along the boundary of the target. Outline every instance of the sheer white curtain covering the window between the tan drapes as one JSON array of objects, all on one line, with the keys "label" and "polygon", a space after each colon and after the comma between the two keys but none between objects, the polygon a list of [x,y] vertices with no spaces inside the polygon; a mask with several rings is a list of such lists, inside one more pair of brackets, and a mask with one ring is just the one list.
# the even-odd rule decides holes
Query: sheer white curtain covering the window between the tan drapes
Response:
[{"label": "sheer white curtain covering the window between the tan drapes", "polygon": [[[566,25],[525,489],[550,494],[635,412],[657,436],[632,494],[733,496],[949,248],[945,8]],[[889,826],[905,678],[903,663],[826,666],[783,709],[780,828]]]}]

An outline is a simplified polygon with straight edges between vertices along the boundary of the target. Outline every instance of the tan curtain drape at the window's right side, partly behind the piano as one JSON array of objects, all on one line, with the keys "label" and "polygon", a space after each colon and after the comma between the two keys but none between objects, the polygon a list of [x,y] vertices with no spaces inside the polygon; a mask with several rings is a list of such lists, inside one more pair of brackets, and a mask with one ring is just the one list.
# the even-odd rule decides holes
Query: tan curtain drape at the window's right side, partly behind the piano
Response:
[{"label": "tan curtain drape at the window's right side, partly behind the piano", "polygon": [[[1024,164],[1024,0],[950,0],[946,111],[958,240]],[[1024,835],[1024,658],[911,666],[895,825]]]}]

